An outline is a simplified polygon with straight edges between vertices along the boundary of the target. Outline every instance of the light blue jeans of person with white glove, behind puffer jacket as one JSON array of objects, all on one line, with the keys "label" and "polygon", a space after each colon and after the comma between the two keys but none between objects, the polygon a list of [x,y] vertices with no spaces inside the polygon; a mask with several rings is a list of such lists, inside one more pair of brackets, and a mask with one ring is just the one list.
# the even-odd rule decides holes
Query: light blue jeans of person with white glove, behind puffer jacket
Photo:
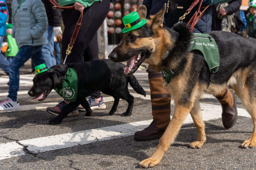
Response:
[{"label": "light blue jeans of person with white glove, behind puffer jacket", "polygon": [[55,56],[53,55],[53,50],[54,50],[53,38],[54,37],[55,37],[55,34],[53,32],[53,26],[48,26],[46,32],[44,33],[46,44],[42,46],[44,61],[47,68],[50,68],[51,66],[56,65]]}]

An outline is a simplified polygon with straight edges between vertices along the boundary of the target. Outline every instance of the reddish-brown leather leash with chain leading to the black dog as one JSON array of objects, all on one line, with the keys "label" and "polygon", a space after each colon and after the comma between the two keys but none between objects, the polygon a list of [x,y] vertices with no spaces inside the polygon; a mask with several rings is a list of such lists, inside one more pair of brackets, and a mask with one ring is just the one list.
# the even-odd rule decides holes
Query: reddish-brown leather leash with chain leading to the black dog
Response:
[{"label": "reddish-brown leather leash with chain leading to the black dog", "polygon": [[[58,2],[56,2],[55,0],[49,0],[50,3],[52,3],[53,5],[53,9],[56,9],[56,8],[59,8],[61,11],[63,11],[64,9],[74,9],[75,8],[75,5],[72,5],[72,6],[65,6],[65,7],[61,7]],[[76,41],[76,37],[77,37],[77,34],[79,32],[79,29],[80,29],[80,26],[81,26],[81,23],[82,23],[82,18],[83,18],[83,11],[81,12],[81,15],[76,23],[76,27],[75,27],[75,30],[73,32],[73,35],[72,37],[70,37],[70,42],[68,44],[68,48],[66,50],[66,57],[63,61],[63,64],[65,64],[66,62],[66,59],[67,59],[67,56],[71,53],[71,49],[73,48],[73,45]]]}]

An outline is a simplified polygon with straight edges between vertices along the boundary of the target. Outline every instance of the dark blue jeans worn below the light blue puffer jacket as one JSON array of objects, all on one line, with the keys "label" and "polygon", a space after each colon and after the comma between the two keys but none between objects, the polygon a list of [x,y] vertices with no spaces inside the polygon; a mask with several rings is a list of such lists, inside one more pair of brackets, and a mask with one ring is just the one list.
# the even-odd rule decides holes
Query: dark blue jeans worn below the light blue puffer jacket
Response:
[{"label": "dark blue jeans worn below the light blue puffer jacket", "polygon": [[10,63],[10,83],[9,83],[9,95],[13,101],[17,101],[17,92],[19,91],[20,82],[20,67],[31,58],[32,63],[37,66],[44,63],[44,57],[42,54],[42,45],[29,46],[24,45],[20,48],[15,57],[13,57]]}]

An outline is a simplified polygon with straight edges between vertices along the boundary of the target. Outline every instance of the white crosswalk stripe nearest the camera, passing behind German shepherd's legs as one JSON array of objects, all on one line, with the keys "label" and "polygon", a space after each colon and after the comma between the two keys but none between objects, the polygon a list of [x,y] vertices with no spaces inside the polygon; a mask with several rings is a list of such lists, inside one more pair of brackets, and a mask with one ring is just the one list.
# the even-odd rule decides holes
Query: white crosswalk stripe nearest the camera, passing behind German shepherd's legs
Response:
[{"label": "white crosswalk stripe nearest the camera, passing behind German shepherd's legs", "polygon": [[[222,109],[218,105],[200,104],[204,121],[220,119]],[[238,116],[250,117],[245,109],[238,108]],[[24,155],[23,146],[31,153],[45,152],[49,150],[88,144],[95,141],[110,140],[118,137],[134,135],[138,130],[146,128],[152,120],[139,121],[129,124],[116,125],[104,128],[89,129],[72,133],[53,136],[45,136],[34,139],[21,140],[0,144],[0,160]],[[189,115],[183,124],[193,123]],[[21,145],[22,144],[22,145]]]}]

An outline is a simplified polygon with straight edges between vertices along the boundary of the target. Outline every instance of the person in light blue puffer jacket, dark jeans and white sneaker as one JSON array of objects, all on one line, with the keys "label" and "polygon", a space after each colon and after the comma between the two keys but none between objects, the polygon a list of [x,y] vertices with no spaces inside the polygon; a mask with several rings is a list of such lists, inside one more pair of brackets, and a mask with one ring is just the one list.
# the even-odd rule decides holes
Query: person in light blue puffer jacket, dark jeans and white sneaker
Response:
[{"label": "person in light blue puffer jacket, dark jeans and white sneaker", "polygon": [[0,110],[19,109],[19,69],[29,58],[36,66],[44,63],[42,45],[45,44],[44,32],[47,27],[48,20],[41,0],[12,1],[12,37],[15,38],[19,51],[10,63],[9,94],[0,103]]}]

